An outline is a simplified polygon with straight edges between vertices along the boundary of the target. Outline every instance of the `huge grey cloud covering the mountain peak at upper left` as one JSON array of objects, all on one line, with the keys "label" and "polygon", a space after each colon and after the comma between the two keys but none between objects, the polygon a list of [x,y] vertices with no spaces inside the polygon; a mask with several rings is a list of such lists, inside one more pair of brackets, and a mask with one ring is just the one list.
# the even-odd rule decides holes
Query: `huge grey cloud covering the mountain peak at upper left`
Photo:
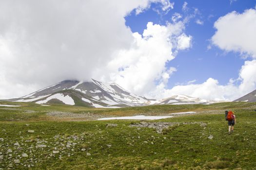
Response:
[{"label": "huge grey cloud covering the mountain peak at upper left", "polygon": [[124,17],[153,2],[173,8],[169,0],[1,2],[0,99],[108,74],[102,68],[137,38]]}]

